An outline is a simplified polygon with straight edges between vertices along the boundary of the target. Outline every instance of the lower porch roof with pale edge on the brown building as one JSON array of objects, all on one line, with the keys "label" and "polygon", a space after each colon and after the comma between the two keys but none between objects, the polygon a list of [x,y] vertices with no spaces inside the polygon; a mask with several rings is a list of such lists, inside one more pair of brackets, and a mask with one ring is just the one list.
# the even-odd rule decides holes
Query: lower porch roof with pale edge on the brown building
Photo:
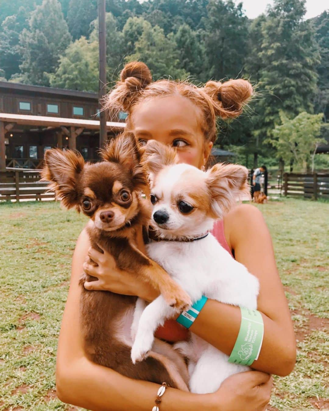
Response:
[{"label": "lower porch roof with pale edge on the brown building", "polygon": [[[41,115],[23,115],[0,113],[0,121],[16,123],[21,125],[46,126],[46,127],[83,127],[90,130],[99,130],[100,122],[97,120],[81,120],[77,118],[44,117]],[[124,129],[125,123],[111,122],[106,123],[108,129]]]}]

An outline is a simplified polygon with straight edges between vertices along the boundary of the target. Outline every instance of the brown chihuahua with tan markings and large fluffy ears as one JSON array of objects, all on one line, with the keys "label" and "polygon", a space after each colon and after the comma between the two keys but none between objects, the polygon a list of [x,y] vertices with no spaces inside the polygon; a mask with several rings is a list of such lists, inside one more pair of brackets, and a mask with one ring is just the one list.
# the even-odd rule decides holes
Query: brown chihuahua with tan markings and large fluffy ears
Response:
[{"label": "brown chihuahua with tan markings and large fluffy ears", "polygon": [[[102,151],[104,161],[85,163],[71,150],[47,150],[43,180],[66,208],[76,208],[90,218],[87,232],[125,270],[151,283],[167,302],[180,309],[191,304],[189,296],[158,264],[136,247],[137,231],[147,227],[150,209],[141,198],[148,192],[148,178],[141,165],[141,150],[134,135],[123,133]],[[110,367],[134,379],[188,390],[188,372],[181,356],[165,342],[157,340],[148,357],[133,365],[130,358],[130,326],[137,297],[109,291],[87,291],[85,281],[95,281],[84,273],[81,285],[81,328],[86,355],[93,362]]]}]

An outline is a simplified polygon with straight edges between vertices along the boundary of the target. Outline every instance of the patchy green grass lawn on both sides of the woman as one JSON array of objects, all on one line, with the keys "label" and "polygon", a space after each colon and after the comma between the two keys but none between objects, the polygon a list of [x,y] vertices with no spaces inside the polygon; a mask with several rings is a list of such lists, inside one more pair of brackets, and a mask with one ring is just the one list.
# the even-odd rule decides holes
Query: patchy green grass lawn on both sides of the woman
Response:
[{"label": "patchy green grass lawn on both sides of the woman", "polygon": [[[329,204],[259,205],[271,231],[298,339],[271,410],[329,409]],[[55,394],[56,346],[70,260],[86,218],[58,203],[0,204],[0,410],[74,409]],[[270,409],[270,408],[269,408]]]}]

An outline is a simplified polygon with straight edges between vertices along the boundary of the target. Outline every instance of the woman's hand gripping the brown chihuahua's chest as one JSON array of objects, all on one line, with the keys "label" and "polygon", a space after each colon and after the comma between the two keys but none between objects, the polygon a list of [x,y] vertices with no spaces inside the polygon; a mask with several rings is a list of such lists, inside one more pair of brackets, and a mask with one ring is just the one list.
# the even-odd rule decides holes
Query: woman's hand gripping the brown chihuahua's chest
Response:
[{"label": "woman's hand gripping the brown chihuahua's chest", "polygon": [[[100,247],[100,249],[102,248]],[[96,277],[97,281],[85,282],[85,289],[138,296],[146,301],[153,301],[158,297],[157,291],[150,284],[142,282],[141,279],[137,281],[134,273],[120,270],[116,266],[113,256],[106,250],[102,251],[99,252],[92,247],[88,250],[89,258],[83,264],[83,270],[86,274]],[[90,263],[90,259],[94,263]]]}]

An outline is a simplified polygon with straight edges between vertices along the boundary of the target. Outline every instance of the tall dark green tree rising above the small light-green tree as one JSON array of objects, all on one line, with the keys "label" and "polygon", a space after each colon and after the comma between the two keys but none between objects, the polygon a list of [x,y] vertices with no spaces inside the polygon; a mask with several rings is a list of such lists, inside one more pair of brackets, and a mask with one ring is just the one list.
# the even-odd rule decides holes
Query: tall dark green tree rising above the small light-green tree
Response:
[{"label": "tall dark green tree rising above the small light-green tree", "polygon": [[320,56],[305,12],[305,0],[275,0],[262,23],[259,88],[266,94],[257,105],[259,136],[271,134],[280,110],[290,116],[313,111]]}]

